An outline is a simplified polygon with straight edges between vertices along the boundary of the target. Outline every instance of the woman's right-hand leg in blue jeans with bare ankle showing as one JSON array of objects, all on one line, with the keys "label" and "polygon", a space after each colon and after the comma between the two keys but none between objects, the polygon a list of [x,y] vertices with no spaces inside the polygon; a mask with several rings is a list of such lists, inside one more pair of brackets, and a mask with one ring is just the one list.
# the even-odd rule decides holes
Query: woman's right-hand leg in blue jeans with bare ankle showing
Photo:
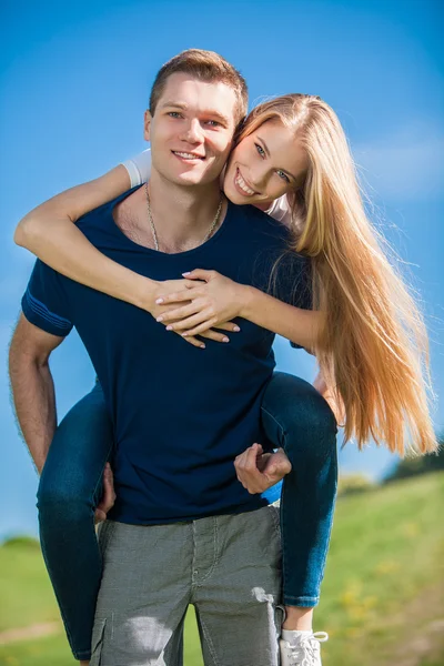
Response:
[{"label": "woman's right-hand leg in blue jeans with bare ankle showing", "polygon": [[286,629],[310,629],[320,597],[337,484],[336,422],[307,382],[274,373],[262,401],[265,434],[292,471],[281,498]]}]

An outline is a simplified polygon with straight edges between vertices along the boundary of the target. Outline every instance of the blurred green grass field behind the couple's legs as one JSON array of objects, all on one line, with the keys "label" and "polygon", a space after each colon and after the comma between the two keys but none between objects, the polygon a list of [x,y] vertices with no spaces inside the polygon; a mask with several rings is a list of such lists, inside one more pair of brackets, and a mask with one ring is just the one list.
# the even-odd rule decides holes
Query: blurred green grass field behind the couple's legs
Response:
[{"label": "blurred green grass field behind the couple's legs", "polygon": [[[444,666],[443,509],[444,473],[339,501],[315,615],[315,628],[330,634],[324,666]],[[58,619],[34,543],[0,548],[0,633]],[[0,664],[75,662],[60,626],[51,636],[0,644]],[[192,612],[185,665],[202,665]]]}]

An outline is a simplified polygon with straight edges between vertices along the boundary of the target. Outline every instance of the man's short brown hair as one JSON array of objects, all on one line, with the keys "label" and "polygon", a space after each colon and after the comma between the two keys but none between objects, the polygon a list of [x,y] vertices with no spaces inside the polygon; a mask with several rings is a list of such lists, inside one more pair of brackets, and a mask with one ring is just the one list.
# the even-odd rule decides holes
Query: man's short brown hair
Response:
[{"label": "man's short brown hair", "polygon": [[194,79],[208,83],[225,83],[236,94],[236,125],[245,118],[249,103],[249,91],[245,79],[222,56],[219,56],[214,51],[203,51],[202,49],[182,51],[161,67],[151,89],[151,115],[154,115],[155,107],[162,97],[168,78],[176,73],[190,74]]}]

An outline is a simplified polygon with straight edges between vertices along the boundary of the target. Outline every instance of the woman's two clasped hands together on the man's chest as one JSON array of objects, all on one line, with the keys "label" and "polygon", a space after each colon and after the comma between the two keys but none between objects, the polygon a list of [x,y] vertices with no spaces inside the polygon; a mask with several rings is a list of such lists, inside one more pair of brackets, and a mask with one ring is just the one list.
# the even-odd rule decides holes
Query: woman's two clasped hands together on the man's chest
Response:
[{"label": "woman's two clasped hands together on the man's chest", "polygon": [[238,333],[232,320],[241,316],[243,290],[216,271],[196,269],[183,273],[184,280],[160,282],[150,312],[167,331],[174,331],[190,344],[204,349],[196,335],[215,342],[230,342],[220,331]]}]

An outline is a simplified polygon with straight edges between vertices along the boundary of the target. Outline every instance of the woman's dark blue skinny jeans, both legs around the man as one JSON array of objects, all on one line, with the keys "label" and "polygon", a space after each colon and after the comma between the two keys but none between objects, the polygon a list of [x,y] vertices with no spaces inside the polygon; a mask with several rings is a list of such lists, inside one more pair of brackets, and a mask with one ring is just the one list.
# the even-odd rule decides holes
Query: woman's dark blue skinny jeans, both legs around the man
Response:
[{"label": "woman's dark blue skinny jeans, both legs around the man", "polygon": [[[311,384],[284,373],[274,373],[266,387],[262,422],[293,466],[281,502],[284,603],[311,607],[319,601],[333,519],[336,423]],[[77,659],[91,655],[102,574],[94,507],[112,448],[112,425],[97,384],[60,423],[38,492],[43,557]]]}]

